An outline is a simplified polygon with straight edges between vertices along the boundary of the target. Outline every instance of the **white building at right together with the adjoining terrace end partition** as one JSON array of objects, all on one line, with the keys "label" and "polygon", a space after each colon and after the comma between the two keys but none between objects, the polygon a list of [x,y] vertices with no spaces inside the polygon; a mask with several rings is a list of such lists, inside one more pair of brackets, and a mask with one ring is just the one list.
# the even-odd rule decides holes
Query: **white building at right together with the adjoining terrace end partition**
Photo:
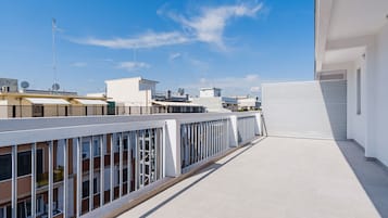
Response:
[{"label": "white building at right together with the adjoining terrace end partition", "polygon": [[263,85],[270,136],[354,140],[388,166],[388,1],[315,1],[315,81]]}]

